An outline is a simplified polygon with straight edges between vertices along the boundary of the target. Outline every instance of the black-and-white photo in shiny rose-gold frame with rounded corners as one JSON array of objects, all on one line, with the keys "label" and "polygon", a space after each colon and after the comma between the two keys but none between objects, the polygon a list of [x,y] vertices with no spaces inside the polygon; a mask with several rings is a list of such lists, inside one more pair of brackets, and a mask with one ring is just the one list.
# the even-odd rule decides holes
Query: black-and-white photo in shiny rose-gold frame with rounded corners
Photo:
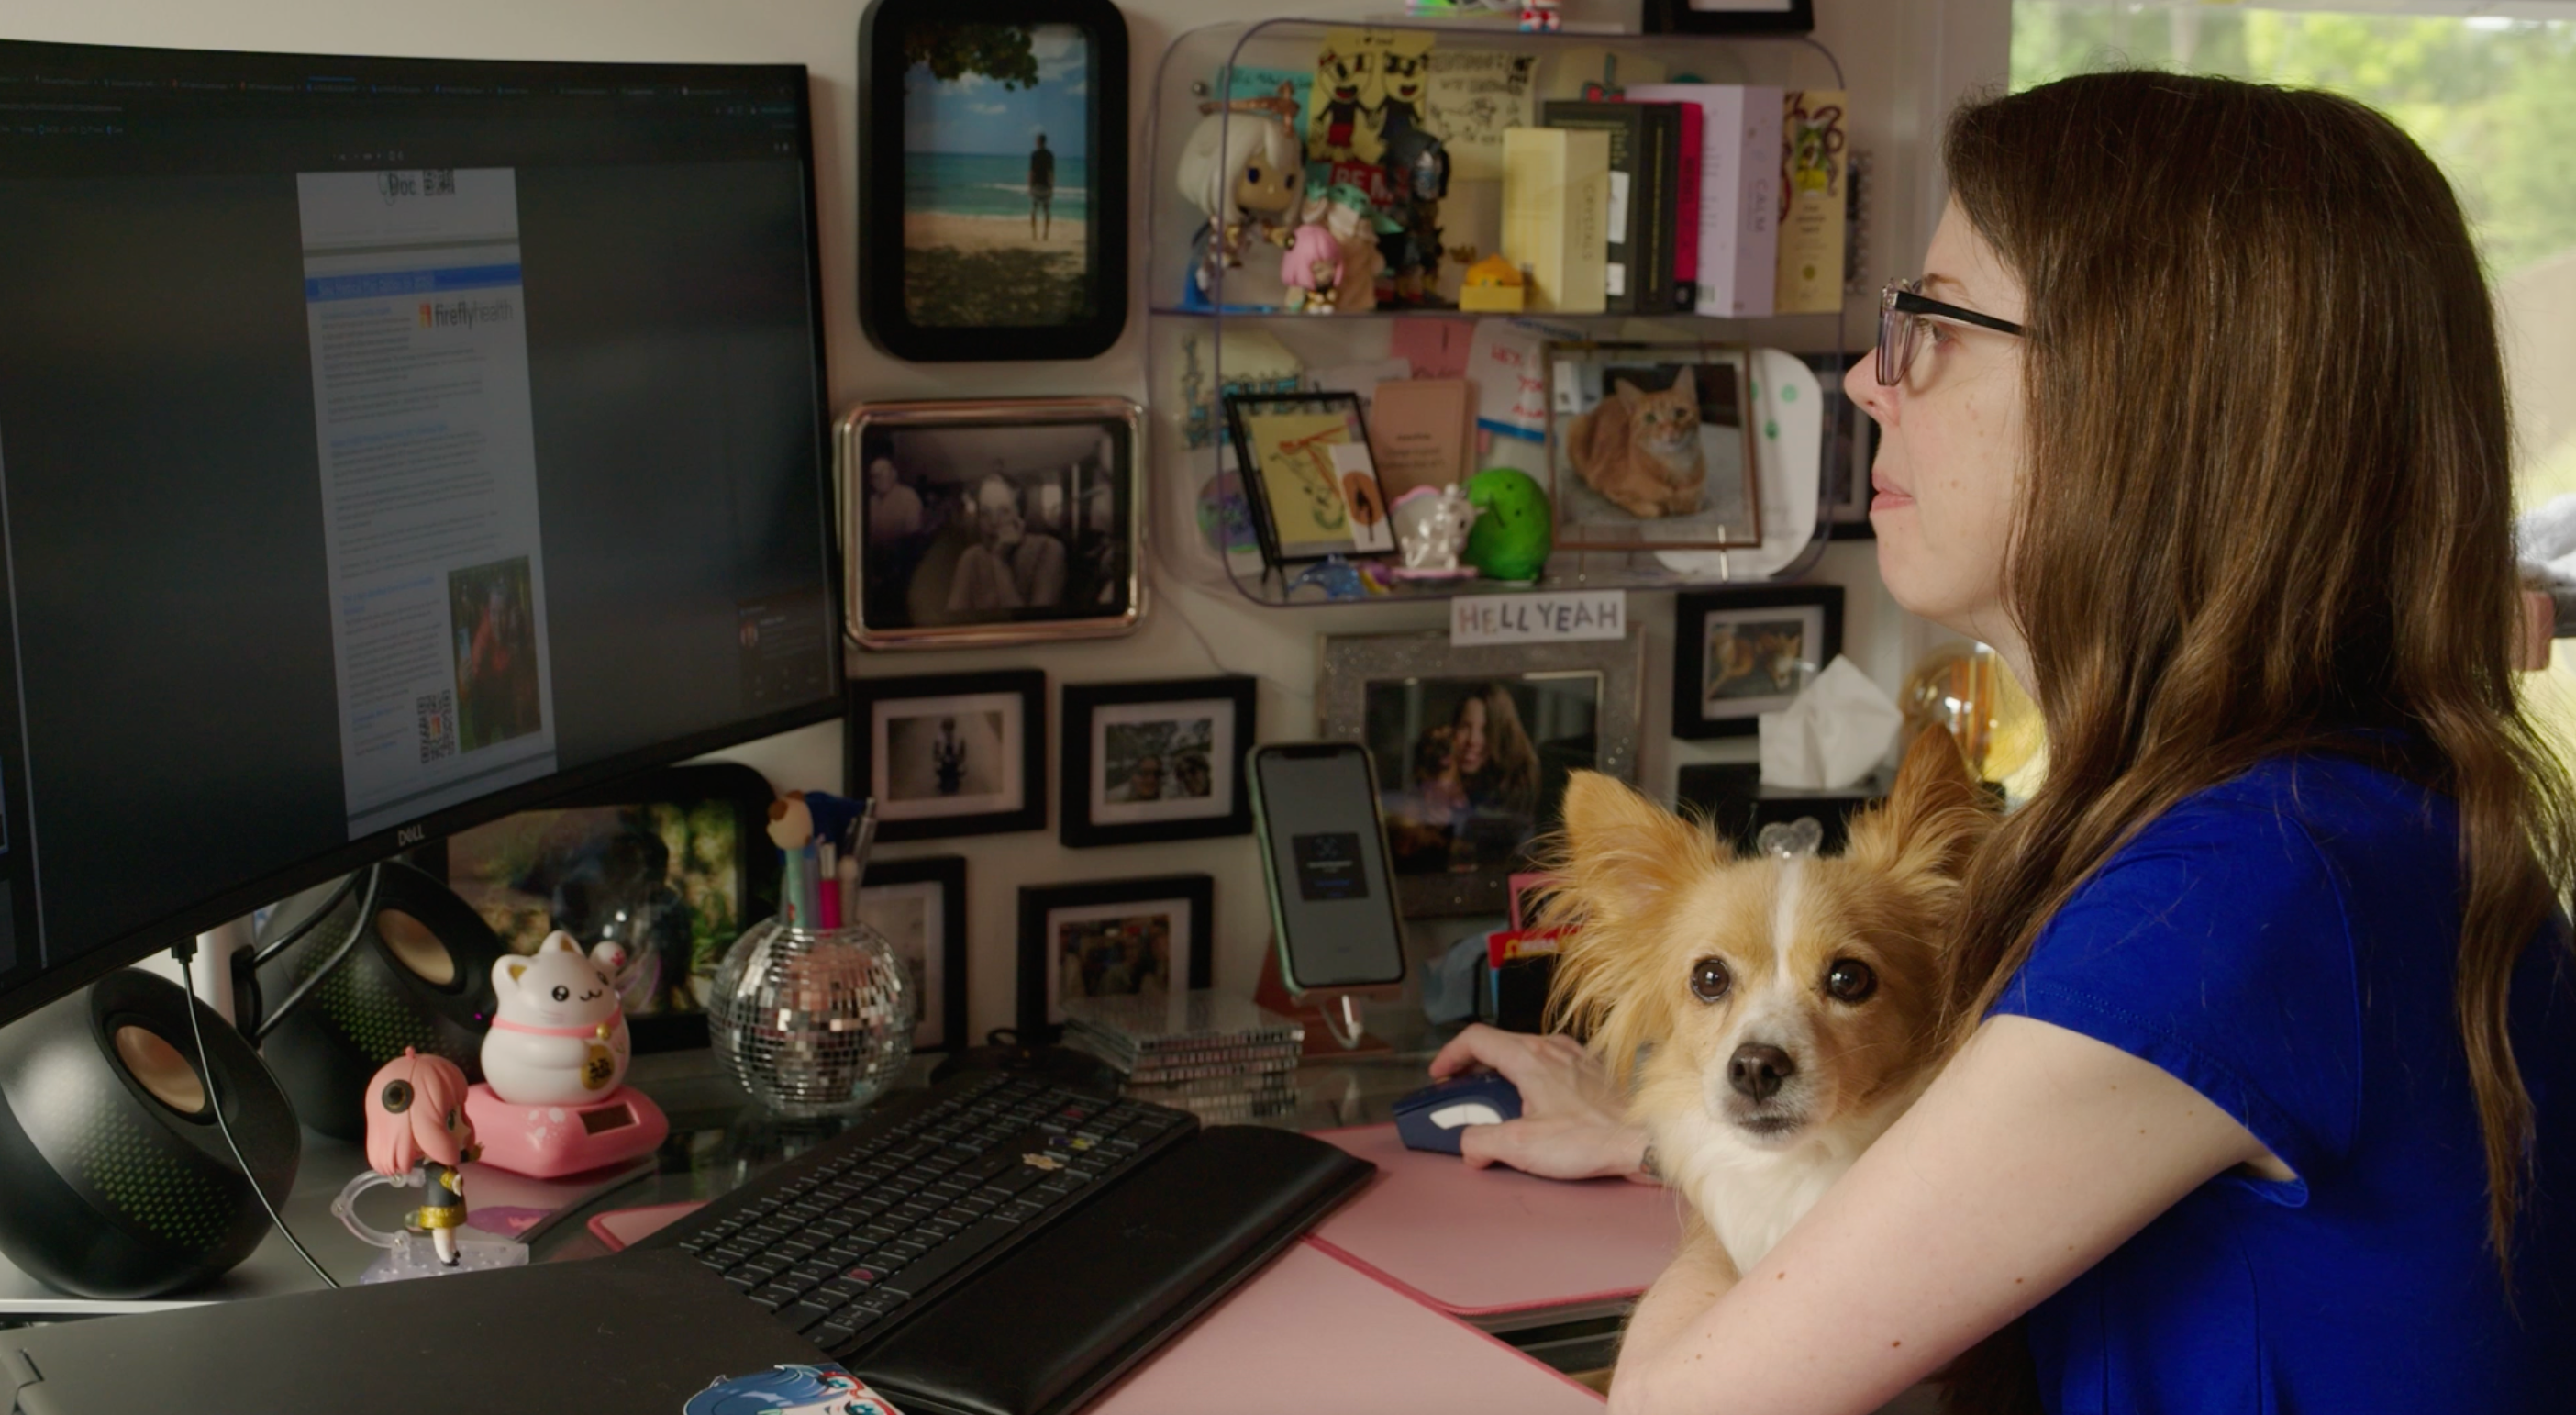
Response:
[{"label": "black-and-white photo in shiny rose-gold frame with rounded corners", "polygon": [[840,420],[850,637],[1097,639],[1144,616],[1144,412],[1123,397],[871,402]]}]

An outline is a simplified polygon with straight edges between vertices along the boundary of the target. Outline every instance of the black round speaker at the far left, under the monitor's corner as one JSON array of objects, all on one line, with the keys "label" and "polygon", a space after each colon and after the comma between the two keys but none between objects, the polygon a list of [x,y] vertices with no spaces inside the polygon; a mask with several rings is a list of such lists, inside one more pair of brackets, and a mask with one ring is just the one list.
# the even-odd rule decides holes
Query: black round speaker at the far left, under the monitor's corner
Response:
[{"label": "black round speaker at the far left, under the monitor's corner", "polygon": [[286,1204],[296,1113],[258,1052],[180,985],[113,972],[0,1028],[0,1253],[62,1291],[111,1299],[198,1286],[250,1258],[268,1211],[216,1106],[260,1191]]}]

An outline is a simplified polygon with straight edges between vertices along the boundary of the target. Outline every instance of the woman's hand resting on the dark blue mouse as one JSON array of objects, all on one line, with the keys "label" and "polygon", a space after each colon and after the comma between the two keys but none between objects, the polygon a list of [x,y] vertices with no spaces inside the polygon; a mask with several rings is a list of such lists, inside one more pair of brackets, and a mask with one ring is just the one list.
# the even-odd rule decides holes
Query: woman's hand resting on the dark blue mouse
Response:
[{"label": "woman's hand resting on the dark blue mouse", "polygon": [[1571,1036],[1528,1036],[1473,1023],[1432,1057],[1432,1077],[1445,1080],[1476,1064],[1520,1088],[1520,1119],[1461,1131],[1458,1152],[1468,1168],[1510,1165],[1569,1180],[1649,1178],[1646,1129],[1628,1124],[1610,1075]]}]

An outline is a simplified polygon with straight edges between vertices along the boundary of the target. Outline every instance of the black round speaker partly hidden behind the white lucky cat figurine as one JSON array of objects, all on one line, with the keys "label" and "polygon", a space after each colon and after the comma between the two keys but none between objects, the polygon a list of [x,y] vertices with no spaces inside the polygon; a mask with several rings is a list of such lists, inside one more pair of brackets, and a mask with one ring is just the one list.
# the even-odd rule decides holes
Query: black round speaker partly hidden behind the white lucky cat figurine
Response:
[{"label": "black round speaker partly hidden behind the white lucky cat figurine", "polygon": [[[482,1039],[497,1005],[492,961],[507,954],[492,925],[435,876],[402,861],[379,871],[374,900],[361,879],[332,905],[332,918],[258,972],[255,987],[258,1003],[278,1008],[322,974],[268,1031],[260,1054],[304,1124],[353,1144],[366,1139],[368,1077],[404,1046],[482,1077]],[[286,923],[289,915],[278,910]]]}]

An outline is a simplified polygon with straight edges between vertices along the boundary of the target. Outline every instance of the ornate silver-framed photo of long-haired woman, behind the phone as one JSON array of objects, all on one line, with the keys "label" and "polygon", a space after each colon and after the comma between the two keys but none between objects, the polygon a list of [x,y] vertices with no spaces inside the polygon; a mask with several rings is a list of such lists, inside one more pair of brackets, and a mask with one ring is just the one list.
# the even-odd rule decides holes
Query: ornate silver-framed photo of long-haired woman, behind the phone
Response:
[{"label": "ornate silver-framed photo of long-haired woman, behind the phone", "polygon": [[1638,647],[1453,647],[1448,634],[1324,639],[1321,737],[1378,773],[1406,918],[1507,912],[1574,771],[1636,776]]}]

